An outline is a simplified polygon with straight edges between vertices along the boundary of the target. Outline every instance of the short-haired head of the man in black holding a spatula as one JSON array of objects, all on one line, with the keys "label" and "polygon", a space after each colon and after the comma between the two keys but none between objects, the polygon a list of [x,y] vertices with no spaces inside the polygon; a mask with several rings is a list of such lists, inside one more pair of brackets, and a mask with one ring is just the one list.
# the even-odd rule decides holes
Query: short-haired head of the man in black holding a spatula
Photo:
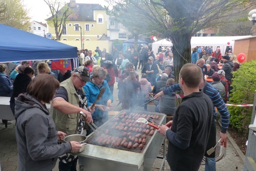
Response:
[{"label": "short-haired head of the man in black holding a spatula", "polygon": [[202,78],[203,72],[201,68],[193,63],[187,63],[183,65],[180,70],[179,84],[181,88],[184,84],[186,84],[188,88],[197,88],[199,87]]}]

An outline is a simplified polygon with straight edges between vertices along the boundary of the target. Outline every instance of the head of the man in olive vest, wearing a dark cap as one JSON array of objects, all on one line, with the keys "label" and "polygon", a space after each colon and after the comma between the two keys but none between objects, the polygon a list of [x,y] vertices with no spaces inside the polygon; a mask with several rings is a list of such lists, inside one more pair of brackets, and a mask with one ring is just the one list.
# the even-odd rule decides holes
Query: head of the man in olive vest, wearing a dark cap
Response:
[{"label": "head of the man in olive vest, wearing a dark cap", "polygon": [[91,82],[90,72],[86,67],[80,66],[71,72],[71,79],[76,89],[82,89],[86,82]]}]

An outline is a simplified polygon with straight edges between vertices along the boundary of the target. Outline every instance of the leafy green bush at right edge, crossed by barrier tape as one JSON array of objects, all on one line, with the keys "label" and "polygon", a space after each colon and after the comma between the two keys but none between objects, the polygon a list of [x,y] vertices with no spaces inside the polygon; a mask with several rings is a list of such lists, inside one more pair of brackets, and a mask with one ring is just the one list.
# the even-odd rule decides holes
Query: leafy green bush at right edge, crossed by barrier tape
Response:
[{"label": "leafy green bush at right edge, crossed by barrier tape", "polygon": [[[253,104],[256,90],[256,61],[243,63],[242,66],[233,72],[233,82],[229,103],[231,104]],[[249,133],[252,116],[252,107],[228,107],[230,112],[230,125],[238,132],[247,136]]]}]

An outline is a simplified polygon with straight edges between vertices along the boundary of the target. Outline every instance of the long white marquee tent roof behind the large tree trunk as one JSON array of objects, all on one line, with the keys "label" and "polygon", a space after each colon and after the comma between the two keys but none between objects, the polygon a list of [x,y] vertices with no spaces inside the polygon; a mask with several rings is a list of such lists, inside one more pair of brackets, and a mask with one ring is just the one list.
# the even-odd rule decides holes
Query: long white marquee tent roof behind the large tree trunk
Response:
[{"label": "long white marquee tent roof behind the large tree trunk", "polygon": [[[220,46],[221,54],[225,54],[227,46],[233,46],[236,39],[241,39],[251,36],[212,36],[212,37],[192,37],[191,48],[196,46],[212,46],[212,50],[215,51],[217,46]],[[172,46],[172,43],[166,39],[159,40],[152,44],[152,50],[154,54],[157,53],[159,46]]]}]

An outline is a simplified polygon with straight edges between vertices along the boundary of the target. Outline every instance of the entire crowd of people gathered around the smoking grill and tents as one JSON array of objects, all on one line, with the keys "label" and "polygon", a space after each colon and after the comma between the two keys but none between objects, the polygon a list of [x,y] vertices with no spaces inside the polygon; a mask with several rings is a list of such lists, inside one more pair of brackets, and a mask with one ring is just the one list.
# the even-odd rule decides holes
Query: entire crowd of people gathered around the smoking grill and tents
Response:
[{"label": "entire crowd of people gathered around the smoking grill and tents", "polygon": [[[115,93],[122,109],[138,107],[138,94],[145,94],[145,111],[154,95],[155,112],[173,117],[158,130],[170,141],[167,161],[171,170],[196,170],[203,156],[205,170],[215,170],[215,153],[206,153],[216,143],[214,107],[222,119],[221,142],[226,142],[229,112],[224,103],[231,90],[232,71],[240,66],[230,53],[221,56],[219,47],[216,51],[211,47],[193,48],[191,63],[180,71],[179,84],[175,84],[175,56],[170,48],[157,55],[148,46],[140,46],[138,51],[131,47],[125,53],[117,48],[108,53],[98,46],[95,51],[79,50],[79,67],[57,74],[51,70],[50,61],[23,61],[12,68],[1,63],[0,96],[11,97],[10,107],[17,120],[19,167],[26,170],[44,161],[42,169],[51,170],[59,158],[60,171],[76,170],[78,156],[70,152],[82,145],[63,143],[63,138],[68,134],[89,135],[92,129],[86,123],[98,127],[105,124]],[[206,82],[206,78],[213,82]],[[175,91],[180,90],[185,97],[177,108]],[[51,103],[50,110],[46,103]],[[37,124],[38,119],[42,124]]]}]

